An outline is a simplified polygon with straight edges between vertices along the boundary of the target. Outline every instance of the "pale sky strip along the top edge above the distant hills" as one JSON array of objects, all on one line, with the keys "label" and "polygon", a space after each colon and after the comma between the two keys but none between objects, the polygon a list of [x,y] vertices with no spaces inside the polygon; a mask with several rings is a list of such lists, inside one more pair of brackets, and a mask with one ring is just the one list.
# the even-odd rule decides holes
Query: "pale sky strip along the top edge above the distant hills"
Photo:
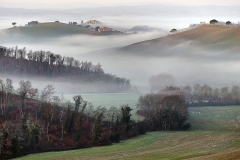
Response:
[{"label": "pale sky strip along the top edge above the distant hills", "polygon": [[[236,6],[240,5],[240,0],[0,0],[0,6],[19,6],[28,7],[38,4],[39,7],[64,7],[64,3],[78,3],[77,5],[69,5],[73,8],[79,7],[100,7],[112,5],[139,5],[144,3],[160,3],[167,5],[222,5]],[[25,4],[23,4],[25,3]],[[26,4],[27,3],[27,4]],[[48,3],[48,4],[46,4]],[[51,4],[49,4],[51,3]],[[21,5],[22,4],[22,5]],[[37,7],[37,6],[36,6]]]}]

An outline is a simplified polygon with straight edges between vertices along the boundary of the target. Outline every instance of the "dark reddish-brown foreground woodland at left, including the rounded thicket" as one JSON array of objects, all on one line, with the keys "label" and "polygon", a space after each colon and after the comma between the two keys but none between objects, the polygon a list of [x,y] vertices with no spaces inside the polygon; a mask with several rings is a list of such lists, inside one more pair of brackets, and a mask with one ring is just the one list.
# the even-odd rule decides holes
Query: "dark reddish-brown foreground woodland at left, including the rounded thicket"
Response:
[{"label": "dark reddish-brown foreground woodland at left, including the rounded thicket", "polygon": [[[128,105],[94,108],[80,95],[73,97],[72,104],[63,96],[53,96],[52,85],[39,93],[30,81],[21,80],[18,93],[12,91],[11,79],[0,80],[1,159],[109,145],[147,131],[190,127],[185,100],[178,94],[141,96],[138,107],[144,120],[136,122]],[[32,99],[36,97],[41,101]]]}]

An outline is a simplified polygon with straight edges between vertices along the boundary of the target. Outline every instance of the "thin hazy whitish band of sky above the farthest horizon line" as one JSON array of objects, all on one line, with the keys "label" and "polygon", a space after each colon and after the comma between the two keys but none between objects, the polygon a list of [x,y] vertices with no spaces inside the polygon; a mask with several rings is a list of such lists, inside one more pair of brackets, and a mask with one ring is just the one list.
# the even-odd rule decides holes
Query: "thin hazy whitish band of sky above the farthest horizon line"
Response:
[{"label": "thin hazy whitish band of sky above the farthest horizon line", "polygon": [[102,0],[101,2],[96,2],[95,0],[1,0],[0,6],[3,7],[17,7],[17,8],[62,8],[62,9],[73,9],[73,8],[83,8],[83,7],[111,7],[111,6],[136,6],[136,5],[146,5],[146,4],[162,4],[162,5],[172,5],[172,6],[206,6],[206,5],[217,5],[217,6],[236,6],[240,5],[238,0],[229,1],[217,1],[217,0],[202,0],[202,1],[192,1],[192,0]]}]

